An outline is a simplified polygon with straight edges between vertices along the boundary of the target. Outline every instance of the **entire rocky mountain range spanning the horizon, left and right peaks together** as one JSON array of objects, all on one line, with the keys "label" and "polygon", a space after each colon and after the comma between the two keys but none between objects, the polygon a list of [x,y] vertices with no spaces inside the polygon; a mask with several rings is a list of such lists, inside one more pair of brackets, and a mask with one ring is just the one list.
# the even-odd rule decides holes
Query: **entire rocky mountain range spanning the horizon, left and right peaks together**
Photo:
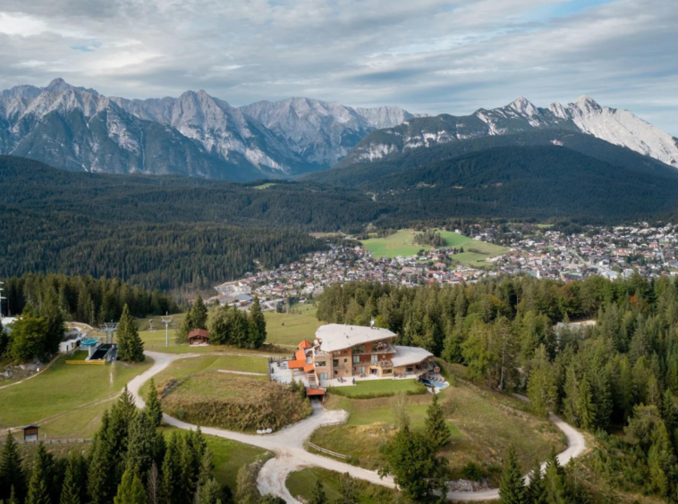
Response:
[{"label": "entire rocky mountain range spanning the horizon, left and right peaks together", "polygon": [[332,166],[328,173],[359,165],[369,171],[370,164],[427,147],[535,130],[584,133],[678,167],[678,139],[589,97],[546,109],[521,97],[467,116],[429,117],[396,106],[354,108],[304,97],[241,107],[205,91],[105,97],[62,79],[0,92],[0,154],[84,172],[249,181]]}]

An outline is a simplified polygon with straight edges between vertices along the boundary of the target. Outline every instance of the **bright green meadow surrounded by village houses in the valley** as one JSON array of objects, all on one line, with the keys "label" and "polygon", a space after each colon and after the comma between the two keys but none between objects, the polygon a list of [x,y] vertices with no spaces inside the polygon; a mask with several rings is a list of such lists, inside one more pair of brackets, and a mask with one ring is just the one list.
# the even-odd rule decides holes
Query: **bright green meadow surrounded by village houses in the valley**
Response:
[{"label": "bright green meadow surrounded by village houses in the valley", "polygon": [[[504,254],[507,250],[493,243],[470,239],[468,236],[453,231],[439,232],[447,242],[447,247],[464,248],[464,252],[453,256],[454,261],[462,265],[487,265],[485,259]],[[361,243],[375,257],[414,256],[422,248],[431,250],[432,247],[428,245],[417,245],[412,242],[416,233],[417,231],[411,229],[400,230],[386,238],[370,238]],[[473,248],[477,252],[470,252],[469,248]]]}]

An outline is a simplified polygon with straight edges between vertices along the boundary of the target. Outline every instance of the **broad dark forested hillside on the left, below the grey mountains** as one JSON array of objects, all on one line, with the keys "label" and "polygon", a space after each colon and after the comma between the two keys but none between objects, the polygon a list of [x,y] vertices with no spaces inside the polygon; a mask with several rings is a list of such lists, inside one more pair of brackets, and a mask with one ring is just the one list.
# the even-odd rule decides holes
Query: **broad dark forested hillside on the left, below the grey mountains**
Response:
[{"label": "broad dark forested hillside on the left, below the grey mountains", "polygon": [[254,187],[65,172],[0,157],[0,272],[205,288],[325,247],[306,231],[360,229],[379,214],[350,189]]}]

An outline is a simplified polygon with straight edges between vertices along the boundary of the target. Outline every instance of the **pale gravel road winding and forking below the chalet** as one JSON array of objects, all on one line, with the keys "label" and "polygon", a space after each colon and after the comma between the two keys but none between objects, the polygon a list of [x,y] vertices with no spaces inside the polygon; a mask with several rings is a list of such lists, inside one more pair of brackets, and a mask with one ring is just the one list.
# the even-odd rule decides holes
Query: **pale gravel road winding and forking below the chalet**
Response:
[{"label": "pale gravel road winding and forking below the chalet", "polygon": [[[141,385],[147,382],[152,376],[163,371],[168,365],[181,358],[200,357],[204,354],[165,354],[160,352],[146,352],[148,357],[155,360],[155,363],[144,373],[135,377],[128,383],[128,389],[134,396],[137,407],[144,407],[144,401],[140,398],[139,390]],[[304,441],[321,424],[341,422],[345,420],[347,413],[345,411],[326,410],[322,407],[314,407],[313,413],[309,418],[302,420],[297,424],[290,425],[277,433],[268,435],[252,435],[244,433],[235,433],[225,429],[215,427],[201,427],[202,432],[225,438],[233,441],[240,441],[246,444],[257,446],[259,448],[270,450],[275,457],[267,461],[261,468],[258,475],[258,489],[261,493],[273,493],[279,495],[284,500],[293,504],[300,504],[294,499],[287,490],[284,482],[292,471],[303,467],[323,467],[339,473],[349,473],[352,477],[377,483],[389,488],[394,488],[393,478],[381,479],[374,471],[369,471],[361,467],[351,466],[339,462],[334,458],[321,457],[309,453],[304,449]],[[180,429],[194,430],[196,425],[187,424],[174,418],[173,416],[163,416],[165,424],[174,425]],[[563,420],[552,415],[551,421],[562,430],[567,436],[568,448],[561,453],[558,458],[562,464],[566,464],[571,458],[577,457],[585,449],[585,441],[581,433],[578,433],[570,425],[565,424]],[[528,478],[529,476],[525,476]],[[496,500],[499,498],[497,489],[483,491],[450,491],[447,493],[449,500],[477,501],[477,500]]]}]

